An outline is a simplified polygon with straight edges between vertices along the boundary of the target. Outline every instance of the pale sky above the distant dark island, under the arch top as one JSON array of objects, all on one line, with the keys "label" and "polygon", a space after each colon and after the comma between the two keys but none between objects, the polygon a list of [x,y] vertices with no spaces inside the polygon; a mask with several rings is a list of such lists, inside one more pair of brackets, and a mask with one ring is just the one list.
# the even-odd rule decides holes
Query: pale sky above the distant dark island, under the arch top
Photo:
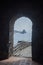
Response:
[{"label": "pale sky above the distant dark island, under the arch top", "polygon": [[20,17],[15,21],[14,30],[22,31],[23,29],[27,32],[32,31],[32,21],[27,17]]}]

